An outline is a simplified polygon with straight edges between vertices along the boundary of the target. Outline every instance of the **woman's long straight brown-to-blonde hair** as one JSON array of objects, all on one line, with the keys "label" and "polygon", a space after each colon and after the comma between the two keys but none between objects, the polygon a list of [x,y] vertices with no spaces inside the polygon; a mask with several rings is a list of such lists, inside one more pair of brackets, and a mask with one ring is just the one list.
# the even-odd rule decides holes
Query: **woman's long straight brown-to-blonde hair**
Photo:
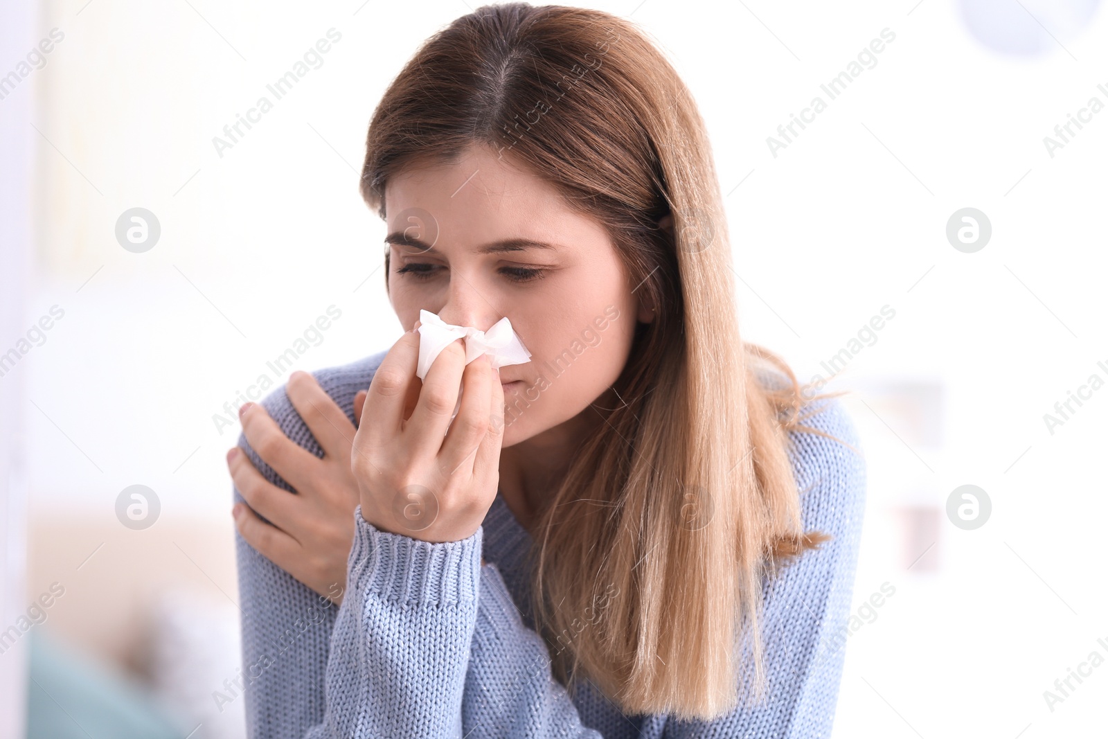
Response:
[{"label": "woman's long straight brown-to-blonde hair", "polygon": [[693,96],[627,20],[484,6],[431,35],[386,91],[362,197],[384,218],[390,177],[474,144],[601,223],[656,306],[613,386],[623,404],[582,440],[529,553],[555,677],[572,690],[587,676],[628,715],[714,718],[736,706],[749,634],[761,698],[762,578],[829,538],[803,531],[788,458],[789,431],[829,435],[800,423],[803,401],[828,396],[809,397],[780,357],[739,336]]}]

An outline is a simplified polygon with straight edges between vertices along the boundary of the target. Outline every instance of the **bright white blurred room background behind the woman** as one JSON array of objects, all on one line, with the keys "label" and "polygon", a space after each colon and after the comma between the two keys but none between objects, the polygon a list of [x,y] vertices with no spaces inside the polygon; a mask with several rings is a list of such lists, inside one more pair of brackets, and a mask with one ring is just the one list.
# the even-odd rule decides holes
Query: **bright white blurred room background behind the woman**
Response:
[{"label": "bright white blurred room background behind the woman", "polygon": [[[1104,735],[1099,2],[586,4],[698,100],[747,338],[851,391],[834,736]],[[399,337],[366,126],[471,9],[0,4],[0,737],[245,736],[235,410]]]}]

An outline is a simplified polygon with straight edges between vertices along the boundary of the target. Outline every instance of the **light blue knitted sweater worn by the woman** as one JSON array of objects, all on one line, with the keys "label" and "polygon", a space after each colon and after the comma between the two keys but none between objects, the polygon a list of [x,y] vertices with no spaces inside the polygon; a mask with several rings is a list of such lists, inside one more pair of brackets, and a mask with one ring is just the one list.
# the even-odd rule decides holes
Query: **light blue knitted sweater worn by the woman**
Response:
[{"label": "light blue knitted sweater worn by the woman", "polygon": [[[314,372],[353,422],[353,397],[386,352]],[[840,402],[806,423],[861,449]],[[296,443],[322,450],[284,388],[261,404]],[[864,509],[864,460],[812,433],[790,459],[804,530],[833,538],[763,581],[767,698],[712,721],[624,715],[592,684],[574,696],[551,673],[533,629],[524,530],[497,494],[469,538],[429,543],[380,531],[355,512],[340,607],[294,579],[236,533],[249,736],[828,737],[842,674]],[[267,480],[291,490],[239,438]],[[243,501],[238,491],[234,499]],[[481,565],[484,556],[486,564]],[[739,686],[737,686],[738,688]]]}]

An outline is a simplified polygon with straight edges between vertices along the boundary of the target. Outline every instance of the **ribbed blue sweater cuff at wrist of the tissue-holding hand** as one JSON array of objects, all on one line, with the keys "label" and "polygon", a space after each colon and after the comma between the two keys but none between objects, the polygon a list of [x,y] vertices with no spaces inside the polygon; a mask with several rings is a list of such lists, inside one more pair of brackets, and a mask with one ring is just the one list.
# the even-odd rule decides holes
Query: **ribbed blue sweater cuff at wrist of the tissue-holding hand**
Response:
[{"label": "ribbed blue sweater cuff at wrist of the tissue-holding hand", "polygon": [[456,542],[424,542],[382,531],[353,512],[348,587],[402,604],[474,603],[481,578],[484,527]]}]

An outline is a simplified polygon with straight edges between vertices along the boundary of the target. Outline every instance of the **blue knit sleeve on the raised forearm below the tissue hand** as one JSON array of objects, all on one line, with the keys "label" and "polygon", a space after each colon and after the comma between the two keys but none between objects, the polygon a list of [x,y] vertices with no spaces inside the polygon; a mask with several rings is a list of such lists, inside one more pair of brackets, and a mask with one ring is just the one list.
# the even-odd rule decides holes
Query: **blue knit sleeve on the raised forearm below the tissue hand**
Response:
[{"label": "blue knit sleeve on the raised forearm below the tissue hand", "polygon": [[360,505],[355,519],[326,715],[307,736],[461,739],[483,528],[429,543],[377,528]]}]

